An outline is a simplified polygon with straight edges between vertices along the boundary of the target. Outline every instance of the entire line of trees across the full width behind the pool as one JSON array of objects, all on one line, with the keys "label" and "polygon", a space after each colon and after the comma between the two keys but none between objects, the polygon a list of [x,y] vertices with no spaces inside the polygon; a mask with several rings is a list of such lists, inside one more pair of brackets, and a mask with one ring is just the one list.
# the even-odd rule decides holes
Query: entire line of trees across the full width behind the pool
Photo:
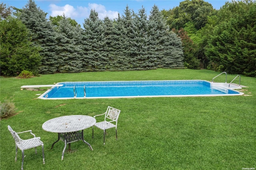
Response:
[{"label": "entire line of trees across the full width behind the pool", "polygon": [[[220,10],[184,0],[110,20],[91,11],[81,28],[66,16],[49,19],[29,0],[11,12],[1,4],[1,75],[189,68],[256,77],[256,2],[227,1]],[[178,36],[178,37],[177,37]]]}]

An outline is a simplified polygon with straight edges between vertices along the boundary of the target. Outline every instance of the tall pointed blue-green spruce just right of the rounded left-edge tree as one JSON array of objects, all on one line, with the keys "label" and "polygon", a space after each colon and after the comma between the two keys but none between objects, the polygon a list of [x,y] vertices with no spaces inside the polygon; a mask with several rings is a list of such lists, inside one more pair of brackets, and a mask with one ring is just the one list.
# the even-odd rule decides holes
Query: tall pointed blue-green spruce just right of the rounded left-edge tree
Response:
[{"label": "tall pointed blue-green spruce just right of the rounded left-edge tree", "polygon": [[51,23],[47,21],[46,13],[37,8],[33,0],[29,0],[18,17],[30,31],[34,45],[41,49],[42,65],[39,67],[40,73],[48,74],[57,71],[56,33]]}]

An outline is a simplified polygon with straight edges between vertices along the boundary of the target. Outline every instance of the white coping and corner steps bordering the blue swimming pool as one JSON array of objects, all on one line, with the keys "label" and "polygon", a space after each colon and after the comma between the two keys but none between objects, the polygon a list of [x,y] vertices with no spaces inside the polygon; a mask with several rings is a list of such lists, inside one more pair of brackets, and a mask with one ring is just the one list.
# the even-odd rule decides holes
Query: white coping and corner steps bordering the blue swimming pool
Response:
[{"label": "white coping and corner steps bordering the blue swimming pool", "polygon": [[[206,80],[142,80],[142,81],[206,81]],[[124,82],[124,81],[66,81],[66,82]],[[59,82],[59,83],[66,83],[66,82]],[[126,82],[132,82],[132,81],[126,81]],[[236,91],[234,89],[242,89],[242,87],[238,87],[236,85],[232,85],[229,83],[214,83],[210,81],[206,81],[210,83],[210,87],[215,88],[223,88],[223,89],[230,89],[232,91]],[[58,85],[59,83],[56,83]],[[119,98],[144,98],[144,97],[216,97],[216,96],[238,96],[238,95],[244,95],[244,93],[240,91],[236,91],[238,94],[214,94],[214,95],[148,95],[148,96],[112,96],[112,97],[59,97],[59,98],[46,98],[42,97],[46,95],[50,90],[52,90],[51,87],[46,92],[44,92],[42,95],[38,97],[38,99],[44,99],[44,100],[63,100],[63,99],[119,99]]]}]

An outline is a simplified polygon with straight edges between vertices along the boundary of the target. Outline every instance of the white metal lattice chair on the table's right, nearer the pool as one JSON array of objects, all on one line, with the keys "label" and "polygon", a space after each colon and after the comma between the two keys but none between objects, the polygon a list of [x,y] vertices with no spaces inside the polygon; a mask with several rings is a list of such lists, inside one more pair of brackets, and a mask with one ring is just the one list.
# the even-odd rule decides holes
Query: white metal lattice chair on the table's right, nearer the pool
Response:
[{"label": "white metal lattice chair on the table's right, nearer the pool", "polygon": [[[94,125],[95,127],[103,130],[104,144],[105,144],[106,129],[114,128],[114,127],[116,127],[116,129],[117,129],[117,121],[118,121],[120,112],[121,112],[120,110],[108,106],[107,111],[105,113],[101,114],[101,115],[105,115],[104,121],[95,123],[95,125]],[[96,116],[101,116],[101,115],[96,115]],[[94,118],[96,116],[94,116]],[[113,124],[114,122],[115,122],[115,124]],[[93,136],[94,126],[92,127],[92,138],[94,138],[94,136]],[[117,140],[117,130],[116,130],[116,140]]]}]

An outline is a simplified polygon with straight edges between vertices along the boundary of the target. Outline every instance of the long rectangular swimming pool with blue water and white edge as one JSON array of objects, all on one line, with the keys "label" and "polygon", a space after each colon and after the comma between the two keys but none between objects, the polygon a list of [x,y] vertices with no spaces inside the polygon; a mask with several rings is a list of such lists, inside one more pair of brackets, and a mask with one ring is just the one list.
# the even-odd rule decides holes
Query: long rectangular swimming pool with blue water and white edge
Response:
[{"label": "long rectangular swimming pool with blue water and white edge", "polygon": [[[130,97],[188,97],[243,95],[226,83],[204,80],[61,82],[39,99],[97,99]],[[233,88],[233,89],[232,89]]]}]

